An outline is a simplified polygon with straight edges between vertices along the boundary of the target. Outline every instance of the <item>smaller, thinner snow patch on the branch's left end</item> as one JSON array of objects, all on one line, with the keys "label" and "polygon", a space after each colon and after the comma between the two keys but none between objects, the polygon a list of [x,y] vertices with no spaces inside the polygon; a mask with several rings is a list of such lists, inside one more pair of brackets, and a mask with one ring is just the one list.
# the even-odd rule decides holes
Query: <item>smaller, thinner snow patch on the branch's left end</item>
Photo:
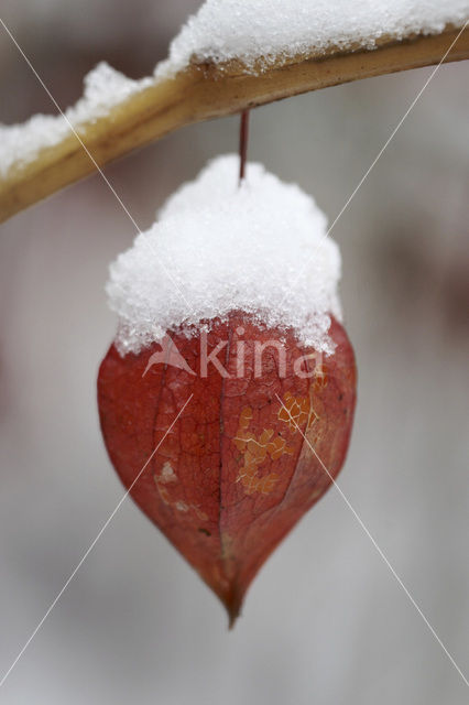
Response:
[{"label": "smaller, thinner snow patch on the branch's left end", "polygon": [[[132,80],[101,62],[85,76],[83,97],[65,115],[78,129],[152,83],[151,78]],[[21,166],[33,160],[41,149],[58,144],[69,133],[70,127],[62,115],[35,115],[22,124],[0,124],[0,176],[4,177],[13,164]]]}]

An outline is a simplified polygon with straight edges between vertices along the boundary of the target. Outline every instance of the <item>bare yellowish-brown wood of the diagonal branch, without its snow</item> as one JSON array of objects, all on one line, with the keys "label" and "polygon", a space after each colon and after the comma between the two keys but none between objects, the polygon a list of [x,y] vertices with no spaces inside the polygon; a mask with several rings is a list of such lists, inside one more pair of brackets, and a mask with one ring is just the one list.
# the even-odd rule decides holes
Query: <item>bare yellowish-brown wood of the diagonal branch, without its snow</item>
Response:
[{"label": "bare yellowish-brown wood of the diagonal branch, without its snow", "polygon": [[[374,50],[330,50],[317,55],[279,61],[268,70],[247,74],[239,62],[225,65],[190,64],[171,79],[160,79],[135,93],[106,117],[77,128],[92,158],[105,166],[186,124],[350,80],[437,64],[460,30],[383,39]],[[469,58],[469,30],[465,30],[445,62]],[[1,147],[0,147],[1,149]],[[0,180],[0,223],[56,191],[91,174],[96,166],[70,133],[42,149],[28,163],[14,164]]]}]

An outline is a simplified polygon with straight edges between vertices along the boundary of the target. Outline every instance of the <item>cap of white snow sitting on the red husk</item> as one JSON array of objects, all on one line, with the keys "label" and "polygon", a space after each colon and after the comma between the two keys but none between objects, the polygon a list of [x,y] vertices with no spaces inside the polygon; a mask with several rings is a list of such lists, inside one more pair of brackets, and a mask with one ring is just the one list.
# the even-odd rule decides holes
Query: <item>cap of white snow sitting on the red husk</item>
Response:
[{"label": "cap of white snow sitting on the red husk", "polygon": [[241,187],[238,170],[236,155],[210,162],[111,264],[107,293],[122,356],[234,310],[334,350],[327,332],[329,314],[340,318],[340,253],[325,215],[261,164],[248,164]]}]

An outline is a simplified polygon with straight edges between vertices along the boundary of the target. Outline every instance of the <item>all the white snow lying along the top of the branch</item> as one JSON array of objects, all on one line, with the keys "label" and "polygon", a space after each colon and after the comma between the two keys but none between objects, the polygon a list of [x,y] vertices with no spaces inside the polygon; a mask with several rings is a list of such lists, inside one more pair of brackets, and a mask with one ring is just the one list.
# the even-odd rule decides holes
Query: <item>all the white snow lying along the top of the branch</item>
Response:
[{"label": "all the white snow lying along the top of the branch", "polygon": [[[220,64],[239,58],[246,70],[262,70],[279,57],[309,53],[312,47],[319,54],[328,47],[373,48],[383,35],[430,34],[447,24],[461,26],[468,19],[469,0],[206,0],[174,39],[155,76],[171,77],[193,58]],[[84,97],[66,111],[67,118],[79,129],[152,80],[132,80],[101,63],[85,77]],[[0,124],[0,178],[68,134],[62,116]]]}]

